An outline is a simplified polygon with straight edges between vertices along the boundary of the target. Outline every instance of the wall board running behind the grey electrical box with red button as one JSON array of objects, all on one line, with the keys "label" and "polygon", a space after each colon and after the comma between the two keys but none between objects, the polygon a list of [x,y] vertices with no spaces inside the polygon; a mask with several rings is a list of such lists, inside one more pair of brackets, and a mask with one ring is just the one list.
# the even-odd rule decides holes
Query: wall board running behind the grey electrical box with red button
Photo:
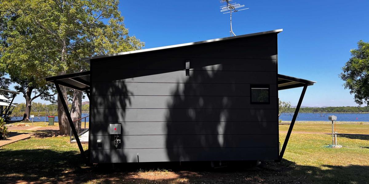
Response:
[{"label": "wall board running behind the grey electrical box with red button", "polygon": [[[118,123],[118,122],[114,122]],[[90,135],[109,135],[108,122],[90,123]],[[278,122],[121,122],[122,135],[278,134]]]}]

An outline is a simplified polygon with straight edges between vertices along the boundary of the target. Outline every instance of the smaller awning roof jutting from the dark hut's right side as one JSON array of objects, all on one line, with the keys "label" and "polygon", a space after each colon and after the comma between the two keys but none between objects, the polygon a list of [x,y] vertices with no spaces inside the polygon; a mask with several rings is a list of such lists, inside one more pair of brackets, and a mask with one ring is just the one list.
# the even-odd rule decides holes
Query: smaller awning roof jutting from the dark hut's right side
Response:
[{"label": "smaller awning roof jutting from the dark hut's right side", "polygon": [[316,82],[278,74],[278,90],[298,88],[304,85],[311,86],[314,83]]}]

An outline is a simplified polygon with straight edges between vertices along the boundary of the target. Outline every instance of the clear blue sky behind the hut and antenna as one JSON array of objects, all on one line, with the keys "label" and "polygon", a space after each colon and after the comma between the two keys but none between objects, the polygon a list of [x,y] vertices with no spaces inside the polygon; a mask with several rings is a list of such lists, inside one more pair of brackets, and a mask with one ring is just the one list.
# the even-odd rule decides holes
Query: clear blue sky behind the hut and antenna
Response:
[{"label": "clear blue sky behind the hut and antenna", "polygon": [[[369,42],[367,0],[234,0],[249,7],[232,16],[236,35],[283,29],[278,35],[278,72],[317,81],[307,89],[303,106],[356,106],[338,74],[356,42]],[[119,9],[130,35],[145,48],[229,36],[229,15],[219,0],[128,1]],[[301,88],[279,97],[296,105]],[[23,102],[19,95],[15,102]],[[37,99],[35,102],[47,103]]]}]

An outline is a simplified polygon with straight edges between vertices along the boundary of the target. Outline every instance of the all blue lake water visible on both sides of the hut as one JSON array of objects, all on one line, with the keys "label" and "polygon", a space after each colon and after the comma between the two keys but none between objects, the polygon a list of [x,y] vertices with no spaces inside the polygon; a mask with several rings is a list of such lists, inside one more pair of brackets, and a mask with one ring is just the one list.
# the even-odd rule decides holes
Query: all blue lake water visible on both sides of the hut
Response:
[{"label": "all blue lake water visible on both sides of the hut", "polygon": [[[356,114],[356,113],[327,113],[320,114],[318,113],[299,113],[297,116],[296,121],[328,121],[328,116],[337,116],[337,121],[368,121],[369,122],[369,114]],[[88,116],[88,114],[83,113],[82,117]],[[291,121],[292,120],[293,113],[283,113],[279,116],[280,120],[283,121]],[[324,116],[324,117],[323,117]],[[22,120],[23,117],[13,117],[11,118],[12,121],[15,120]],[[49,121],[48,117],[42,116],[40,118],[33,118],[34,122],[37,121]],[[32,119],[31,119],[32,121]],[[55,121],[58,121],[58,116],[55,116]],[[83,120],[84,121],[84,120]],[[89,121],[89,117],[86,118],[86,121]]]}]

